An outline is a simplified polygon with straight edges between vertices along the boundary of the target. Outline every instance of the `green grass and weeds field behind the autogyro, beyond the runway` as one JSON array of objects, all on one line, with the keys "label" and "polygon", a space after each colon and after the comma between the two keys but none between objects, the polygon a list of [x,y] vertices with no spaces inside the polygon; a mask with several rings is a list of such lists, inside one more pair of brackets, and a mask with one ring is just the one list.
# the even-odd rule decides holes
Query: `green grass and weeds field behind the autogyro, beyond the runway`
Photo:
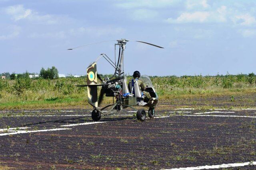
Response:
[{"label": "green grass and weeds field behind the autogyro, beyond the runway", "polygon": [[[130,77],[128,77],[128,80]],[[159,100],[170,104],[182,104],[194,98],[228,97],[222,103],[254,103],[254,98],[243,98],[256,93],[254,78],[246,74],[226,76],[166,76],[151,77]],[[57,80],[0,80],[0,109],[63,109],[88,108],[87,88],[74,85],[85,84],[86,78],[59,78]],[[100,90],[100,88],[98,88]],[[112,103],[112,98],[104,99],[103,104]],[[190,104],[196,106],[197,100]]]}]

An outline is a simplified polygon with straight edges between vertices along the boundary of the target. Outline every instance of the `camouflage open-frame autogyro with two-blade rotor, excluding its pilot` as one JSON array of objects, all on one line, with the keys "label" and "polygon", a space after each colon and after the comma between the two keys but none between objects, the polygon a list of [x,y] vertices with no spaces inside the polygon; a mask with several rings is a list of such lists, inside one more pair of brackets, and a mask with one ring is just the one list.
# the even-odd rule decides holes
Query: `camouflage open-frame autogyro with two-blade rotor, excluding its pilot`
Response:
[{"label": "camouflage open-frame autogyro with two-blade rotor, excluding its pilot", "polygon": [[[132,40],[133,41],[133,40]],[[106,41],[101,41],[106,42]],[[98,42],[98,43],[101,43]],[[148,116],[150,118],[155,116],[155,109],[154,107],[158,103],[158,95],[152,85],[150,78],[146,75],[142,75],[140,80],[146,84],[145,91],[150,93],[151,98],[148,102],[144,102],[145,96],[142,94],[140,87],[138,85],[138,81],[136,79],[132,79],[127,85],[127,78],[124,74],[124,50],[126,49],[126,43],[129,40],[120,39],[117,40],[115,44],[115,51],[116,46],[119,47],[118,57],[116,57],[115,53],[115,60],[112,61],[106,54],[100,54],[100,56],[87,67],[87,84],[86,85],[77,85],[78,87],[86,87],[88,92],[88,103],[93,107],[92,110],[92,119],[94,121],[99,121],[101,115],[113,115],[116,114],[118,111],[130,107],[134,110],[137,110],[135,106],[143,106],[149,107],[148,109]],[[154,47],[163,48],[158,45],[154,45],[151,43],[147,43],[144,41],[136,41],[139,43],[145,43],[148,45],[152,45]],[[91,43],[94,44],[94,43]],[[87,44],[87,45],[91,45]],[[86,45],[80,46],[84,47]],[[76,48],[68,50],[73,50]],[[97,73],[96,63],[100,58],[106,59],[108,63],[114,67],[114,74],[111,77],[105,77],[104,80],[100,77]],[[100,80],[100,84],[98,84],[98,79]],[[98,97],[98,86],[102,86],[100,90],[100,95]],[[103,96],[112,97],[113,104],[100,108],[100,104],[102,103]],[[146,119],[146,111],[144,109],[138,109],[136,113],[136,117],[140,121],[144,121]]]}]

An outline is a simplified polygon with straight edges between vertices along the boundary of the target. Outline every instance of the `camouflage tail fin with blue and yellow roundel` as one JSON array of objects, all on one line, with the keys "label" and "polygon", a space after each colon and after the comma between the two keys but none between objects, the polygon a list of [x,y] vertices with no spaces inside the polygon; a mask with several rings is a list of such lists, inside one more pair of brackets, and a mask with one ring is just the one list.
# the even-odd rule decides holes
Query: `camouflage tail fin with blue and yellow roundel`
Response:
[{"label": "camouflage tail fin with blue and yellow roundel", "polygon": [[98,107],[98,92],[97,86],[90,86],[97,84],[97,67],[96,62],[87,67],[87,91],[88,103],[93,107]]}]

